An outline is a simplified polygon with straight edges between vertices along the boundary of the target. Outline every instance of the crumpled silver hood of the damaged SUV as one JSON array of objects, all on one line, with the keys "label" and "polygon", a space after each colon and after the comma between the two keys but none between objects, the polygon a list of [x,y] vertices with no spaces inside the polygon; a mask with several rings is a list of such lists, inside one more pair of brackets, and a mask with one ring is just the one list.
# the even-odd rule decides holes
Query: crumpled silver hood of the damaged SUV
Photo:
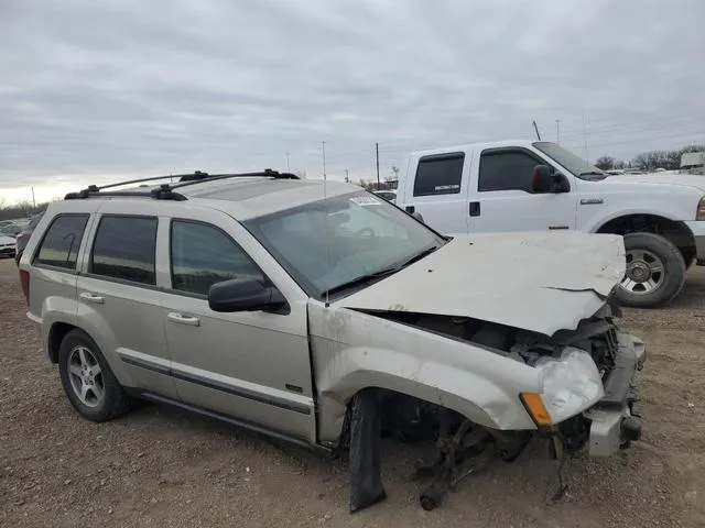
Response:
[{"label": "crumpled silver hood of the damaged SUV", "polygon": [[333,306],[471,317],[552,336],[592,317],[625,267],[615,234],[458,235]]}]

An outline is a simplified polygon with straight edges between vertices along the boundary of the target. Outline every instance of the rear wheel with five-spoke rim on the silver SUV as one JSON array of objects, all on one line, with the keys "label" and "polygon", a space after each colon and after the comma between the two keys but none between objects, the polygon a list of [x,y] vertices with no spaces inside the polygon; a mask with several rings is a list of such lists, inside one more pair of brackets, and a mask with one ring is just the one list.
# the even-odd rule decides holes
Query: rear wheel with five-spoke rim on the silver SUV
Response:
[{"label": "rear wheel with five-spoke rim on the silver SUV", "polygon": [[[68,400],[90,421],[117,418],[132,404],[98,345],[82,330],[74,329],[62,340],[58,373]],[[88,389],[82,397],[83,387]]]}]

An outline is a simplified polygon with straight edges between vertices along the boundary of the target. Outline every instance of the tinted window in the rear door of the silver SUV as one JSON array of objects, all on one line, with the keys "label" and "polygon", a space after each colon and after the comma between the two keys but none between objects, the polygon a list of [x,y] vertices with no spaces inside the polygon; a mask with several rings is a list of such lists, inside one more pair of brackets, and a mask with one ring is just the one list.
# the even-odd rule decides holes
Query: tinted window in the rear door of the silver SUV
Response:
[{"label": "tinted window in the rear door of the silver SUV", "polygon": [[90,273],[156,284],[156,218],[102,217],[90,255]]}]

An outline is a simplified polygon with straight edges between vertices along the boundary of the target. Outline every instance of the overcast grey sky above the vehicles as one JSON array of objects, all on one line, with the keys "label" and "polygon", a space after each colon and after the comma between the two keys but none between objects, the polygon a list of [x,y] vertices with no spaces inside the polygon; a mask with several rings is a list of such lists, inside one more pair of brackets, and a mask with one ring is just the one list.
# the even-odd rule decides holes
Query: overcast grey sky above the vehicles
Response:
[{"label": "overcast grey sky above the vehicles", "polygon": [[[703,0],[0,1],[0,198],[411,148],[705,143]],[[51,196],[50,196],[51,195]]]}]

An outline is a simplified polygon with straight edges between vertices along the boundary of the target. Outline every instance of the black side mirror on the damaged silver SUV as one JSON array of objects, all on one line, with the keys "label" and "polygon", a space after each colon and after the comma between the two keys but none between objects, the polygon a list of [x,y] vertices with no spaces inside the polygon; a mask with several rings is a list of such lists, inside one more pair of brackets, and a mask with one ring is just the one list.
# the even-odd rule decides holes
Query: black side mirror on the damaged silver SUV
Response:
[{"label": "black side mirror on the damaged silver SUV", "polygon": [[231,278],[216,283],[208,290],[208,306],[213,311],[257,311],[286,305],[282,293],[265,287],[256,278]]}]

